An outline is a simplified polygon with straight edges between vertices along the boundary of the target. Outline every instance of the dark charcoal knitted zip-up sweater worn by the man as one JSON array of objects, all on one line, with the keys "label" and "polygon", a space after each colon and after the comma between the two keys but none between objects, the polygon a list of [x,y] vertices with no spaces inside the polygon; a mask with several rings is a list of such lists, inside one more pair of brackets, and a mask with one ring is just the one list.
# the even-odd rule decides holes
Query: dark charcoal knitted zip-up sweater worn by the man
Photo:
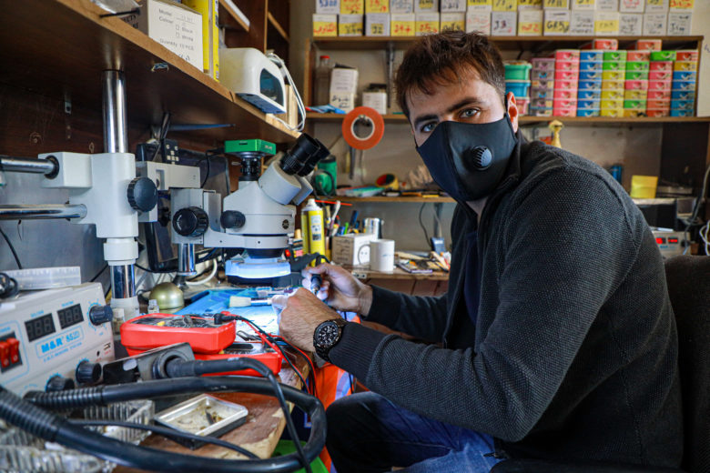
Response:
[{"label": "dark charcoal knitted zip-up sweater worn by the man", "polygon": [[462,238],[476,220],[457,206],[446,296],[373,288],[368,320],[442,347],[349,324],[333,362],[403,408],[492,435],[512,458],[677,467],[675,320],[654,237],[624,189],[579,156],[518,146],[478,228],[473,327]]}]

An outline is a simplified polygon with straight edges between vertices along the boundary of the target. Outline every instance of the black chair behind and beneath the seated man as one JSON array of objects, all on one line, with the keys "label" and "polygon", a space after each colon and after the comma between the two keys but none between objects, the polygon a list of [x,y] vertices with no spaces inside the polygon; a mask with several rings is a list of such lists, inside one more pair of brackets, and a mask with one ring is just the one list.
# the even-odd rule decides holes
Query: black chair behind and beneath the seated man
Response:
[{"label": "black chair behind and beneath the seated man", "polygon": [[491,473],[710,473],[710,257],[671,258],[665,262],[665,278],[678,327],[683,470],[511,459],[497,464]]}]

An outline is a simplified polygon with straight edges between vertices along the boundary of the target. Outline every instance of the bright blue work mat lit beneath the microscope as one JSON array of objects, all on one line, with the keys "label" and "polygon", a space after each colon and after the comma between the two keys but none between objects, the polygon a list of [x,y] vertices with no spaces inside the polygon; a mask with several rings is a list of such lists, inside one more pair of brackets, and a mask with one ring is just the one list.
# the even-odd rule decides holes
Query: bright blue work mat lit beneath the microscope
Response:
[{"label": "bright blue work mat lit beneath the microscope", "polygon": [[[193,296],[193,302],[189,306],[176,312],[179,316],[187,314],[217,314],[223,310],[227,310],[232,314],[248,318],[265,331],[278,334],[279,321],[274,309],[271,306],[252,306],[252,307],[229,307],[229,297],[259,297],[257,291],[269,291],[270,287],[258,287],[249,289],[210,289]],[[253,330],[244,322],[237,323],[237,330],[243,330],[248,334],[253,333]]]}]

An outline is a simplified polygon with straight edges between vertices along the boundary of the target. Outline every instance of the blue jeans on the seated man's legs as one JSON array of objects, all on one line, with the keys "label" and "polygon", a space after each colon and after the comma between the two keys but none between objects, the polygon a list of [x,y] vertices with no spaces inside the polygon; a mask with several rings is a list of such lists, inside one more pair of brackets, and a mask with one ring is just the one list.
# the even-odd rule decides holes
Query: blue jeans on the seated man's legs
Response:
[{"label": "blue jeans on the seated man's legs", "polygon": [[338,473],[487,473],[500,461],[491,436],[444,424],[366,392],[333,402],[326,446]]}]

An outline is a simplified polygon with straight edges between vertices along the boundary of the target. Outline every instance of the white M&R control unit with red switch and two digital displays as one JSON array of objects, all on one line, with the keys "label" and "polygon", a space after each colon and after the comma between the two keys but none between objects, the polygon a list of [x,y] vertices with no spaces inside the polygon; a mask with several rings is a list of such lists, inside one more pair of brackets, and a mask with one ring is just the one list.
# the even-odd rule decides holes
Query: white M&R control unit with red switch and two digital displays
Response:
[{"label": "white M&R control unit with red switch and two digital displays", "polygon": [[0,384],[16,394],[92,384],[114,359],[99,283],[24,293],[0,304]]}]

